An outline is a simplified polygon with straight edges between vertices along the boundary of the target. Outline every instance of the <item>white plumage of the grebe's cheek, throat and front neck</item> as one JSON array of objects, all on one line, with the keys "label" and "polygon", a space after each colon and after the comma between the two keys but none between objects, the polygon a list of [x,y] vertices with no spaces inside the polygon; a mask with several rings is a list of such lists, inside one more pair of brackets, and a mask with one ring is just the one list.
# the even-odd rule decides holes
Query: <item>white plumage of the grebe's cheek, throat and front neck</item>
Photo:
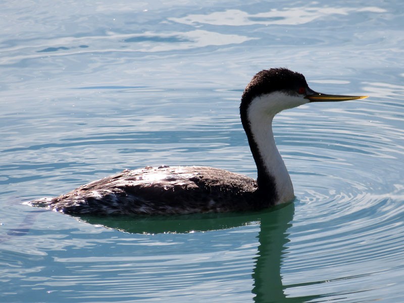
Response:
[{"label": "white plumage of the grebe's cheek, throat and front neck", "polygon": [[272,121],[279,112],[308,103],[301,96],[275,91],[252,99],[247,117],[252,136],[258,145],[267,173],[275,178],[278,200],[275,204],[286,203],[294,198],[293,184],[272,132]]}]

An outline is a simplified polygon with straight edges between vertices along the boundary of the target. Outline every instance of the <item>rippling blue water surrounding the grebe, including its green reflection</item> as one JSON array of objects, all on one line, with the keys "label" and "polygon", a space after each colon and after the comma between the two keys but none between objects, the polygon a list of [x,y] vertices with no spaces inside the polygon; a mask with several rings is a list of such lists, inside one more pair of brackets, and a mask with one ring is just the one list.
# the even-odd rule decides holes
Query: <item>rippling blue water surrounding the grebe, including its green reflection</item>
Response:
[{"label": "rippling blue water surrounding the grebe, including its green reflection", "polygon": [[[404,300],[399,2],[0,4],[0,301]],[[281,113],[296,199],[74,218],[24,201],[146,165],[255,177],[238,117],[269,67],[368,99]]]}]

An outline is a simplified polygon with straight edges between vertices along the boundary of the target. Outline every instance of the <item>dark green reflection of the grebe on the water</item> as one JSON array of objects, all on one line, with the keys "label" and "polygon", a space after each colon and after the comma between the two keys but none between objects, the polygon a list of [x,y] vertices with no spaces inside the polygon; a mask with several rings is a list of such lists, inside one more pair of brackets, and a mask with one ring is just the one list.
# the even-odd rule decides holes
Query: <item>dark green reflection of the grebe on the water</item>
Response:
[{"label": "dark green reflection of the grebe on the water", "polygon": [[259,246],[252,272],[255,302],[305,302],[316,298],[286,297],[287,289],[282,283],[281,265],[285,261],[285,249],[289,242],[288,229],[292,226],[294,204],[289,203],[263,212],[249,214],[193,214],[162,217],[96,217],[80,216],[80,220],[107,228],[136,234],[188,233],[192,231],[215,231],[260,223]]}]

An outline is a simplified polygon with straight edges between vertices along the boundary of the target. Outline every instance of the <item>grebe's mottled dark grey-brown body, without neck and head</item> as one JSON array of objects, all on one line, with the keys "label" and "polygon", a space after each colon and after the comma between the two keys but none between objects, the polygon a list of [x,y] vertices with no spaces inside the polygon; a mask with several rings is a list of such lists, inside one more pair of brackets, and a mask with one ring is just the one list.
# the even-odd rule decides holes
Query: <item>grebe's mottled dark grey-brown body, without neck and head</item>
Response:
[{"label": "grebe's mottled dark grey-brown body, without neck and head", "polygon": [[125,170],[33,206],[68,214],[167,215],[259,209],[256,180],[212,167]]}]

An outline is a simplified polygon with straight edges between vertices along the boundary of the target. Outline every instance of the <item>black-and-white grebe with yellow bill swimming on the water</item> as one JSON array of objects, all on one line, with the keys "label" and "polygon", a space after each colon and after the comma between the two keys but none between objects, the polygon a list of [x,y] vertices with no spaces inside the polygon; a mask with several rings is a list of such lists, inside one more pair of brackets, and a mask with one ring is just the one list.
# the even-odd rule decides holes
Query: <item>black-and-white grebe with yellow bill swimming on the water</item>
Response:
[{"label": "black-and-white grebe with yellow bill swimming on the water", "polygon": [[293,185],[272,133],[275,115],[309,102],[366,97],[318,93],[302,74],[285,68],[263,70],[246,86],[240,105],[257,180],[212,167],[145,167],[29,204],[68,214],[167,215],[260,210],[287,203],[294,199]]}]

